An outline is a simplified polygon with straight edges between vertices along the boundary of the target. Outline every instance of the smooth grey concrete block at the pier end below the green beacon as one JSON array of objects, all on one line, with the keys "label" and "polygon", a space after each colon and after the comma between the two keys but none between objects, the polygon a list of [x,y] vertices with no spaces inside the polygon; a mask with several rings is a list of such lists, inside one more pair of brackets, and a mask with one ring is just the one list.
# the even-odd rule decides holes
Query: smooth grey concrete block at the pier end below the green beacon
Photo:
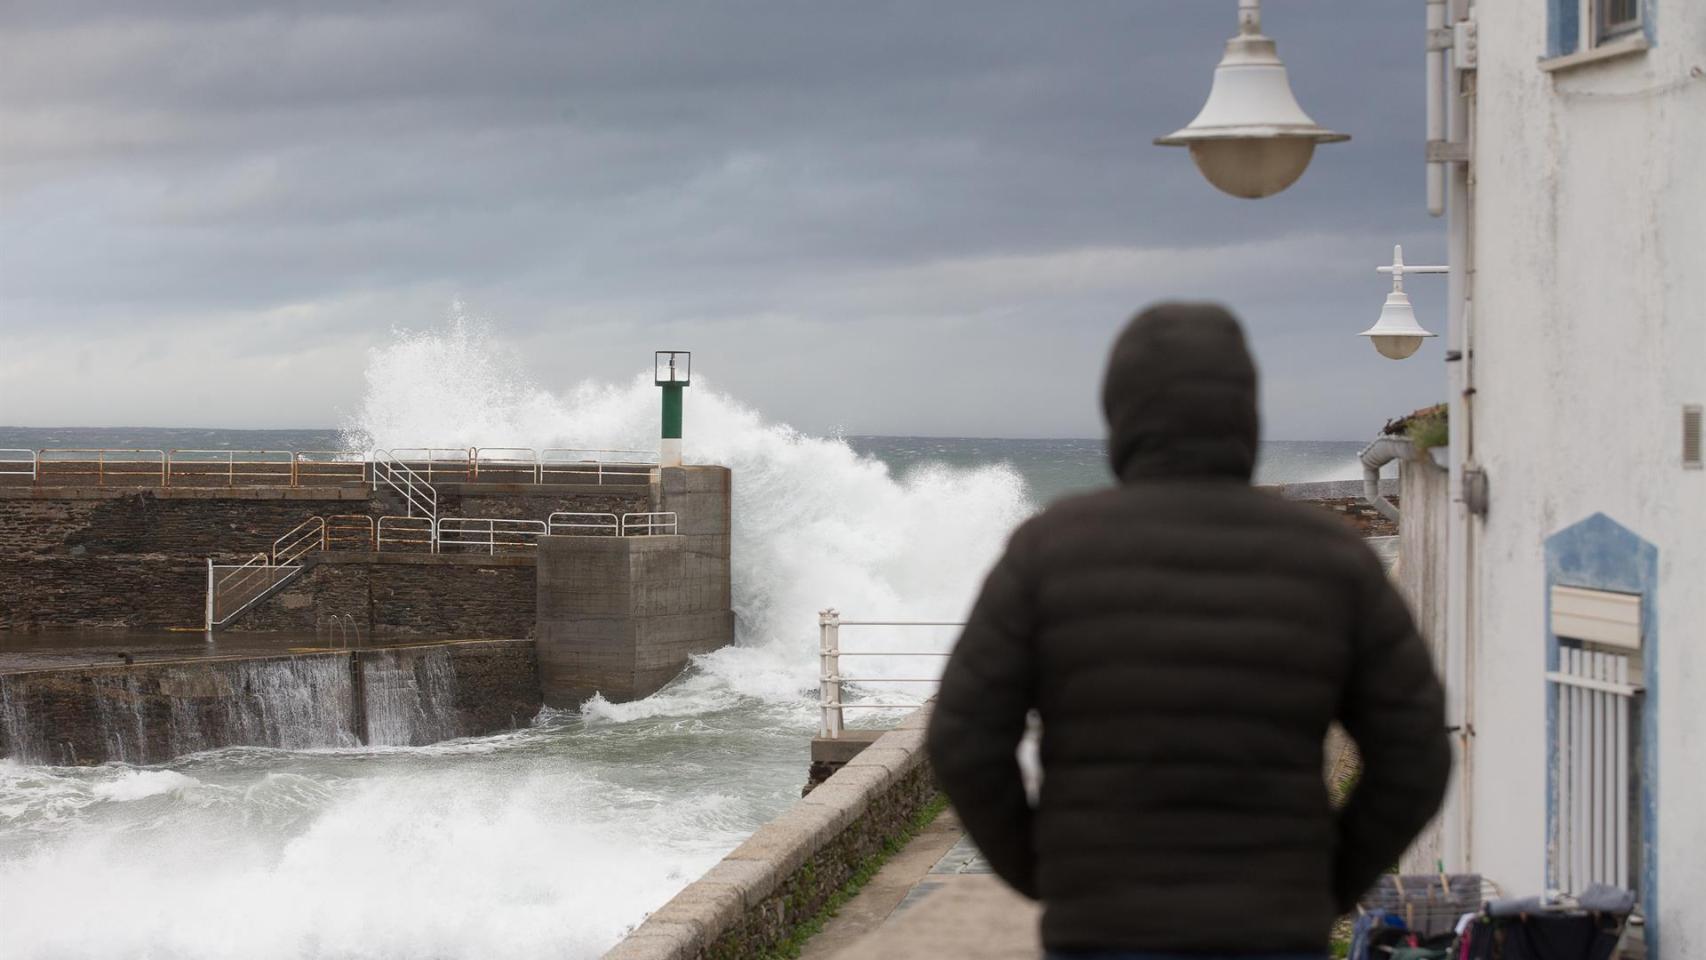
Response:
[{"label": "smooth grey concrete block at the pier end below the green beacon", "polygon": [[677,513],[676,535],[539,542],[534,638],[551,706],[648,696],[734,643],[728,471],[660,472],[657,508]]}]

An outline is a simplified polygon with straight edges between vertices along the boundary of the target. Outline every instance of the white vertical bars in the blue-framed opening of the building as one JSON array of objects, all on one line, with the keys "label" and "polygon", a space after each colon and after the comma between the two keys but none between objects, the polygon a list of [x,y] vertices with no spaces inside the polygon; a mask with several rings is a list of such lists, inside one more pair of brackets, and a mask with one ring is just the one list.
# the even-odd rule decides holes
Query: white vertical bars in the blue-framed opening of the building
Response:
[{"label": "white vertical bars in the blue-framed opening of the building", "polygon": [[1558,653],[1559,668],[1546,674],[1558,697],[1551,887],[1581,892],[1609,883],[1629,890],[1639,856],[1631,795],[1639,779],[1634,759],[1643,687],[1631,679],[1626,655],[1581,646]]}]

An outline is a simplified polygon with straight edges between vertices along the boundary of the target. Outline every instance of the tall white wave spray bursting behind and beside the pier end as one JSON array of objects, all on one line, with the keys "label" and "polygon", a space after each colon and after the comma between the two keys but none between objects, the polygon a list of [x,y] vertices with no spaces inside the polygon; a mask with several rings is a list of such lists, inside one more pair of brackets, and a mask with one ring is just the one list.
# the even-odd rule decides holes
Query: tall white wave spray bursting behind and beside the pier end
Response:
[{"label": "tall white wave spray bursting behind and beside the pier end", "polygon": [[[367,394],[346,426],[355,447],[655,448],[659,390],[648,372],[558,396],[519,375],[485,324],[399,334],[375,350]],[[1032,505],[1010,466],[926,466],[892,476],[839,438],[807,437],[715,389],[698,358],[688,389],[689,462],[734,472],[735,648],[701,658],[722,684],[667,696],[734,692],[798,699],[817,684],[817,610],[846,617],[962,619]],[[846,631],[850,648],[945,648],[952,631]],[[897,675],[918,662],[862,663]],[[935,668],[925,667],[925,668]],[[602,706],[594,709],[606,711]],[[655,709],[655,706],[636,708]]]}]

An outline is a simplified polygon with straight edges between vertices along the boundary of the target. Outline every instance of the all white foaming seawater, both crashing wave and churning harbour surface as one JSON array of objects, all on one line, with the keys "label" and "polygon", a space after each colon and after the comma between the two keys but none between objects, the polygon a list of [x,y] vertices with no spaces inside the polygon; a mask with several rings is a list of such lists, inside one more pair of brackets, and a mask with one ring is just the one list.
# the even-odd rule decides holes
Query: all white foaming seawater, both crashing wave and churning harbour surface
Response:
[{"label": "all white foaming seawater, both crashing wave and churning harbour surface", "polygon": [[[476,324],[399,336],[372,356],[351,447],[655,445],[650,377],[553,394],[514,368]],[[1030,505],[1008,467],[897,477],[768,421],[706,372],[711,355],[686,452],[734,471],[735,646],[645,701],[594,697],[498,738],[215,750],[171,771],[0,762],[0,955],[592,958],[792,803],[815,726],[817,610],[960,619]],[[952,636],[846,627],[843,646]]]}]

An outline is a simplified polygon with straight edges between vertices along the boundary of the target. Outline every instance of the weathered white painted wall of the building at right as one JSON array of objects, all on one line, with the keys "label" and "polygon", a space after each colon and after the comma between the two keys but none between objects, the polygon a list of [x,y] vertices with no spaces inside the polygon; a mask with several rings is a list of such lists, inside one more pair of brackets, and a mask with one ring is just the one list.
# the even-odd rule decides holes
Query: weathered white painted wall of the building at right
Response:
[{"label": "weathered white painted wall of the building at right", "polygon": [[[1658,547],[1658,933],[1706,957],[1706,3],[1646,53],[1546,73],[1547,3],[1479,0],[1474,123],[1474,866],[1546,885],[1544,542],[1593,513]],[[1454,425],[1454,431],[1457,426]]]}]

